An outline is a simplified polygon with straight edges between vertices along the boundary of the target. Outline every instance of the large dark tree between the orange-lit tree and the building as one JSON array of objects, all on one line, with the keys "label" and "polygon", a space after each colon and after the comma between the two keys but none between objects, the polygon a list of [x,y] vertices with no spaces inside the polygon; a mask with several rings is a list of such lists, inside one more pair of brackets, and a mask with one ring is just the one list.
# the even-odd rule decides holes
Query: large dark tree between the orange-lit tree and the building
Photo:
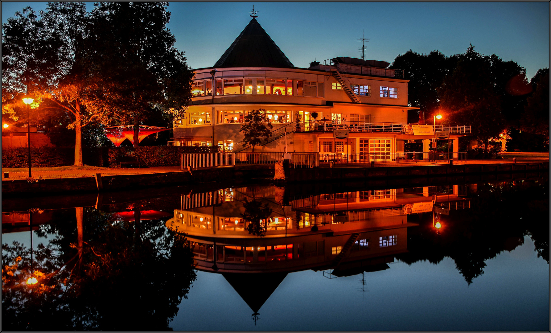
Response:
[{"label": "large dark tree between the orange-lit tree and the building", "polygon": [[166,3],[100,3],[92,12],[87,40],[100,55],[96,69],[108,77],[113,96],[111,122],[139,123],[161,109],[183,117],[191,100],[193,72],[166,29]]}]

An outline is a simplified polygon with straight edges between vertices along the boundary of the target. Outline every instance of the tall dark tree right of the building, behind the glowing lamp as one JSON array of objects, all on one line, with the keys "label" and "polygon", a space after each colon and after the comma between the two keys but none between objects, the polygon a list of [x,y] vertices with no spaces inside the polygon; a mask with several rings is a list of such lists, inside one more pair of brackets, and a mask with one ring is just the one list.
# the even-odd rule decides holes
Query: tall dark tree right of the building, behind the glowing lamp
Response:
[{"label": "tall dark tree right of the building, behind the glowing lamp", "polygon": [[471,124],[473,134],[484,142],[488,153],[490,138],[504,129],[499,97],[494,93],[488,58],[469,46],[461,55],[457,67],[447,76],[437,92],[440,108],[453,125]]}]

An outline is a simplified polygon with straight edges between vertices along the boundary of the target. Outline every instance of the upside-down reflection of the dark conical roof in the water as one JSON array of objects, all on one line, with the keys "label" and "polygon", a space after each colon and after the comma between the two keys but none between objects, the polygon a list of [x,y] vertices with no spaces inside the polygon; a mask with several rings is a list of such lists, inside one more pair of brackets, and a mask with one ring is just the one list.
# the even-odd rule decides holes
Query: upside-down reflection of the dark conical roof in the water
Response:
[{"label": "upside-down reflection of the dark conical roof in the water", "polygon": [[272,295],[283,281],[287,272],[283,273],[222,273],[224,278],[234,287],[235,291],[255,313]]}]

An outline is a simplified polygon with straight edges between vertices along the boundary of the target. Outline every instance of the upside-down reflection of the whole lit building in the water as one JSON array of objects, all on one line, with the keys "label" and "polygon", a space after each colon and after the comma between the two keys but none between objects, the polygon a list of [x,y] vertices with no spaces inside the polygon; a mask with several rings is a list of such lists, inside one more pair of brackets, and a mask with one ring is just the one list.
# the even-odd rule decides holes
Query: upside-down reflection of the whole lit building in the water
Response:
[{"label": "upside-down reflection of the whole lit building in the water", "polygon": [[[292,198],[277,186],[230,188],[182,195],[166,226],[187,235],[196,268],[222,273],[256,318],[289,272],[334,278],[386,270],[407,252],[407,228],[418,225],[410,214],[469,208],[466,195],[467,185]],[[251,200],[271,210],[261,221],[264,237],[247,230]]]}]

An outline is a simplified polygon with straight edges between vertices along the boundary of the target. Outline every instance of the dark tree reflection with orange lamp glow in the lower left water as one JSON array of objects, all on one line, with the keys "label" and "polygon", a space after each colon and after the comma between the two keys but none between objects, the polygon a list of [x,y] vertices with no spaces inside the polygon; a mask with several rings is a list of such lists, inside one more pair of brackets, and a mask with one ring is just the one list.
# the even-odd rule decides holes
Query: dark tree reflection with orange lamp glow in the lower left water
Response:
[{"label": "dark tree reflection with orange lamp glow in the lower left water", "polygon": [[33,267],[43,276],[32,288],[29,249],[3,244],[2,329],[169,329],[196,278],[185,237],[159,219],[139,225],[94,208],[76,212],[78,227],[41,226],[54,238],[36,246]]}]

